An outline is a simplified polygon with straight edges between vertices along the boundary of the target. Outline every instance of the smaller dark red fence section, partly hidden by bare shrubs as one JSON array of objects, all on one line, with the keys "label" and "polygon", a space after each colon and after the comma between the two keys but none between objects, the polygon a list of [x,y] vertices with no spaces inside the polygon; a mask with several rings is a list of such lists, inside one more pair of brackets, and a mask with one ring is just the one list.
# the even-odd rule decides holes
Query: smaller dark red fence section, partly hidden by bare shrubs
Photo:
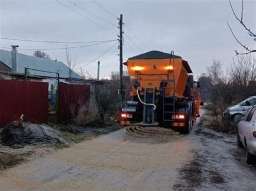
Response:
[{"label": "smaller dark red fence section, partly hidden by bare shrubs", "polygon": [[90,98],[90,86],[77,84],[59,84],[59,122],[68,121],[76,116],[79,108],[87,107]]}]

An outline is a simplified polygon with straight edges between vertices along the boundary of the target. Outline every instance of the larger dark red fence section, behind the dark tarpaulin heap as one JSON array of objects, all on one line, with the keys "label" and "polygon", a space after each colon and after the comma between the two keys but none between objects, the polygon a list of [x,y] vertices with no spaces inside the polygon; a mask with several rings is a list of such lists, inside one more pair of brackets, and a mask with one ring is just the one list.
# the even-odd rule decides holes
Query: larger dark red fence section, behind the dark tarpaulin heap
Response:
[{"label": "larger dark red fence section, behind the dark tarpaulin heap", "polygon": [[48,83],[0,80],[0,127],[24,114],[24,121],[45,123]]}]

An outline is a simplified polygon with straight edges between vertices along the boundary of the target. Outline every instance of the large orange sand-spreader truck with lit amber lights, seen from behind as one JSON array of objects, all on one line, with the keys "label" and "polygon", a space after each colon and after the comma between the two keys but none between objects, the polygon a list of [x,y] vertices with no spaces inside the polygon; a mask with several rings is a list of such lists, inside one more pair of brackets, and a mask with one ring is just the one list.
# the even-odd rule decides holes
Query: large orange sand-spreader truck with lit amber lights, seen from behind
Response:
[{"label": "large orange sand-spreader truck with lit amber lights, seen from behind", "polygon": [[200,84],[180,56],[150,51],[129,58],[133,101],[119,110],[121,125],[162,126],[190,133],[199,115]]}]

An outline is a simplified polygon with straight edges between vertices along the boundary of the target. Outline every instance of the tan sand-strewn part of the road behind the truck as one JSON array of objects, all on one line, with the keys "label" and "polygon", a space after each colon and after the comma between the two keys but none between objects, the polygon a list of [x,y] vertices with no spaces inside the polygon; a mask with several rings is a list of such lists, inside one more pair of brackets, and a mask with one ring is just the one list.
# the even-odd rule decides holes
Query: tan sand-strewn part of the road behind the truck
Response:
[{"label": "tan sand-strewn part of the road behind the truck", "polygon": [[145,143],[119,130],[8,169],[0,185],[4,190],[171,189],[175,169],[193,148],[181,139]]}]

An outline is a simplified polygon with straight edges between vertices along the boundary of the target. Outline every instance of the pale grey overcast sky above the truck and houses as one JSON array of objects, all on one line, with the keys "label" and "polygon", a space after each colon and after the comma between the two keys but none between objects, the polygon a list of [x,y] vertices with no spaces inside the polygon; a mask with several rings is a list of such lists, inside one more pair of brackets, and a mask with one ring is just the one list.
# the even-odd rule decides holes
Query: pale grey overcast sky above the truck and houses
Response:
[{"label": "pale grey overcast sky above the truck and houses", "polygon": [[[119,29],[118,20],[97,6],[92,1],[73,1],[82,8],[104,18],[109,23],[79,9],[68,0],[60,1],[84,17],[71,11],[55,0],[45,1],[11,1],[0,0],[1,32],[0,36],[14,39],[48,40],[48,41],[100,41],[115,40]],[[244,1],[244,22],[256,31],[256,1]],[[174,51],[187,60],[193,73],[206,72],[213,59],[220,60],[224,67],[231,63],[234,49],[242,48],[232,37],[226,22],[230,23],[234,33],[252,48],[255,43],[233,17],[228,0],[221,1],[100,1],[97,3],[109,10],[114,16],[123,14],[124,27],[124,61],[127,58],[151,50],[163,52]],[[240,14],[241,1],[232,1],[235,11]],[[110,24],[111,23],[111,24]],[[100,26],[99,26],[100,25]],[[115,26],[116,25],[116,26]],[[101,27],[102,26],[102,27]],[[105,29],[104,29],[105,28]],[[107,30],[106,30],[107,29]],[[112,32],[111,32],[112,31]],[[96,59],[116,41],[96,46],[70,49],[73,57],[77,56],[77,66]],[[0,39],[1,47],[11,44],[19,45],[19,53],[32,55],[29,49],[62,48],[65,44],[31,43],[26,41]],[[83,46],[85,44],[69,44]],[[4,48],[1,48],[4,49]],[[65,50],[44,51],[52,60],[65,62]],[[111,71],[119,69],[118,46],[114,46],[102,56],[100,76],[108,76]],[[97,60],[84,67],[96,75]]]}]

